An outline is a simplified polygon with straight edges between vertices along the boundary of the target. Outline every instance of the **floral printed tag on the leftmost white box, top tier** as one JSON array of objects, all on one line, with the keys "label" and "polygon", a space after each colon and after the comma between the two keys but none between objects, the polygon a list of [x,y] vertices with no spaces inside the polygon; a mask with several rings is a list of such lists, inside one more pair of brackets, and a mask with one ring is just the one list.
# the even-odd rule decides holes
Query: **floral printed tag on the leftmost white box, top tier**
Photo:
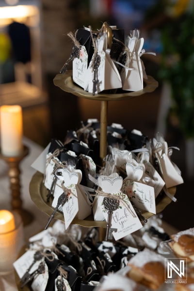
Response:
[{"label": "floral printed tag on the leftmost white box, top tier", "polygon": [[80,58],[73,60],[73,81],[84,88],[85,74],[87,72],[88,54],[84,46],[81,46]]}]

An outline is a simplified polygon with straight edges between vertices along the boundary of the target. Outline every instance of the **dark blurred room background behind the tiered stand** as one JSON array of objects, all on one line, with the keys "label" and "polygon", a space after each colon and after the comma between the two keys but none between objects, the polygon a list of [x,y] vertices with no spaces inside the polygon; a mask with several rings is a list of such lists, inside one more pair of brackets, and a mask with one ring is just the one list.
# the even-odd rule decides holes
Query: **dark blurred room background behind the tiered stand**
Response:
[{"label": "dark blurred room background behind the tiered stand", "polygon": [[[68,94],[53,79],[71,54],[68,32],[107,21],[140,29],[147,75],[159,82],[151,94],[110,101],[108,124],[138,129],[149,138],[160,131],[182,172],[163,218],[178,229],[193,227],[194,206],[194,0],[0,0],[0,105],[23,108],[24,135],[41,146],[81,120],[100,120],[100,101]],[[71,69],[71,64],[68,69]]]}]

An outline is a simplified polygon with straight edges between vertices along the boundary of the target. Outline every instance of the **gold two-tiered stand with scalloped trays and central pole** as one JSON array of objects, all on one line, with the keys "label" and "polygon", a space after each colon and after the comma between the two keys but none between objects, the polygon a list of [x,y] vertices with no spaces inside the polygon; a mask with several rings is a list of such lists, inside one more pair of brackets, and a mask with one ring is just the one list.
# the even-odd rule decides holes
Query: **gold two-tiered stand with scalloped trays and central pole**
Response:
[{"label": "gold two-tiered stand with scalloped trays and central pole", "polygon": [[[101,112],[100,112],[100,158],[101,161],[106,156],[106,147],[107,147],[107,115],[108,115],[108,102],[109,101],[118,101],[125,100],[133,97],[138,97],[145,93],[151,93],[158,87],[158,82],[155,81],[152,77],[148,76],[148,79],[144,80],[145,86],[142,90],[137,92],[123,91],[118,94],[105,94],[103,92],[95,94],[94,96],[91,93],[88,93],[81,89],[72,81],[72,71],[67,71],[64,75],[58,74],[54,78],[54,84],[60,87],[65,92],[72,93],[78,97],[98,100],[101,101]],[[176,187],[168,189],[169,193],[174,195],[176,192]],[[30,194],[32,201],[36,204],[38,209],[44,211],[49,216],[53,212],[52,208],[52,199],[47,202],[48,190],[43,183],[43,174],[36,172],[32,177],[30,183]],[[172,200],[165,194],[161,194],[156,198],[156,213],[161,212]],[[144,212],[143,215],[146,219],[151,217],[153,213]],[[63,213],[56,212],[55,219],[64,221]],[[93,215],[88,216],[84,220],[74,219],[72,224],[77,224],[85,227],[106,227],[106,221],[94,221]]]}]

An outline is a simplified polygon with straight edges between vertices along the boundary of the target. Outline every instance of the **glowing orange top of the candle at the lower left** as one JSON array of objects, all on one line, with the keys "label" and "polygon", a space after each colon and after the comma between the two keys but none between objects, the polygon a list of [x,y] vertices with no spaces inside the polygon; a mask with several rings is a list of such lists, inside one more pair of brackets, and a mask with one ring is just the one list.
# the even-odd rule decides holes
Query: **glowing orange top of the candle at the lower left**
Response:
[{"label": "glowing orange top of the candle at the lower left", "polygon": [[14,215],[8,210],[0,210],[0,234],[15,229]]}]

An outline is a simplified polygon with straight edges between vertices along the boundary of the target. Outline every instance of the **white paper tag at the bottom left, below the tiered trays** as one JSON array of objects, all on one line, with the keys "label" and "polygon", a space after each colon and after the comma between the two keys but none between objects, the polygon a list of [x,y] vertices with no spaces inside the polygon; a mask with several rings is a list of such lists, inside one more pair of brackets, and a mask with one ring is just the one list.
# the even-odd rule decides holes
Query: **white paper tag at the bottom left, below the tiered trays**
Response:
[{"label": "white paper tag at the bottom left, below the tiered trays", "polygon": [[[36,250],[29,250],[14,262],[13,265],[14,265],[14,268],[15,268],[19,278],[21,278],[26,273],[26,270],[32,264],[33,256],[34,256],[35,252],[36,252]],[[29,273],[32,274],[34,271],[36,271],[39,264],[40,264],[40,261],[36,261],[33,264]]]}]

